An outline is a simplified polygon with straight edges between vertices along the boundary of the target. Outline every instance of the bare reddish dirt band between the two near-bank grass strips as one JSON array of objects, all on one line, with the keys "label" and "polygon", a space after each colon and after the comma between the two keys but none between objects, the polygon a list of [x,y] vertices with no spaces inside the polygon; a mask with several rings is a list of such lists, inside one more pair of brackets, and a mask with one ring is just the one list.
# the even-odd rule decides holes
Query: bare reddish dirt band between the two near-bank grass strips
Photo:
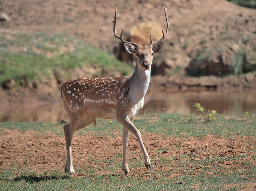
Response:
[{"label": "bare reddish dirt band between the two near-bank grass strips", "polygon": [[[36,134],[36,135],[35,135]],[[74,157],[74,168],[91,166],[99,169],[99,173],[104,175],[108,171],[104,170],[104,159],[116,158],[122,161],[122,136],[120,133],[114,133],[113,136],[97,136],[91,134],[78,135],[75,134],[72,141],[72,150]],[[246,156],[243,161],[246,163],[255,163],[254,138],[247,136],[235,136],[233,139],[224,138],[219,135],[208,134],[201,138],[179,138],[173,136],[164,136],[154,133],[143,133],[148,154],[153,161],[153,171],[158,169],[172,171],[166,176],[176,177],[182,175],[182,169],[177,169],[175,158],[184,154],[194,155],[194,160],[202,160],[207,158],[222,158],[231,156]],[[0,165],[2,169],[21,168],[30,171],[63,171],[66,164],[66,150],[64,137],[57,136],[52,133],[38,135],[37,132],[21,133],[15,130],[5,130],[0,136]],[[170,158],[173,163],[169,166],[161,166],[156,160],[157,158]],[[183,160],[191,160],[184,158]],[[241,169],[240,159],[232,163],[223,160],[224,173]],[[128,146],[128,163],[142,160],[142,151],[135,136],[130,136]],[[237,162],[237,163],[236,163]],[[201,167],[194,169],[194,173],[201,173]],[[146,171],[145,167],[136,167],[130,169],[132,173],[140,174]],[[225,172],[226,171],[226,172]],[[122,166],[116,171],[122,172]]]}]

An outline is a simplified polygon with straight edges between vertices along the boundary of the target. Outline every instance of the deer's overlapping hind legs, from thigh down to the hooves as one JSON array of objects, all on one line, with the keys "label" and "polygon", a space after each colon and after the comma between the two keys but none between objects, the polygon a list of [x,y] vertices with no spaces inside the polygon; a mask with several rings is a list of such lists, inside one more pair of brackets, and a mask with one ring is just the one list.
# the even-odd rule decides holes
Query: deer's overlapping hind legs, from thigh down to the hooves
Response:
[{"label": "deer's overlapping hind legs, from thigh down to the hooves", "polygon": [[65,172],[69,172],[70,175],[74,175],[75,171],[73,168],[73,156],[71,143],[73,139],[74,132],[77,130],[78,125],[81,121],[81,115],[79,113],[70,114],[70,123],[63,126],[64,135],[66,140],[66,150],[67,150],[67,163],[65,165]]}]

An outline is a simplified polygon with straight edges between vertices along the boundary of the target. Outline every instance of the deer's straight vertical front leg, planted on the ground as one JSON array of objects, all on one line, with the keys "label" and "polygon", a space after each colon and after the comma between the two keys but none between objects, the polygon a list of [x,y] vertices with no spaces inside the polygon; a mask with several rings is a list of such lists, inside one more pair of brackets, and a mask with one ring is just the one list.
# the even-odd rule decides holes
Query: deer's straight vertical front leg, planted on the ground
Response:
[{"label": "deer's straight vertical front leg, planted on the ground", "polygon": [[125,174],[131,173],[127,163],[127,147],[129,141],[129,134],[130,131],[127,128],[123,127],[123,171]]}]

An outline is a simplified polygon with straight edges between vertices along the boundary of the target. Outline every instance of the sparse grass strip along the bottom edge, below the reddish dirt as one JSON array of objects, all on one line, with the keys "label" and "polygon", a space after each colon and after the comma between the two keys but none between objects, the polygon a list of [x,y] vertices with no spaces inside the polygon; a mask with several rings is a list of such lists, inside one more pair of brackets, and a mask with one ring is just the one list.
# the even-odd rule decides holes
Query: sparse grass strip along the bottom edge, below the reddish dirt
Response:
[{"label": "sparse grass strip along the bottom edge, below the reddish dirt", "polygon": [[[198,161],[200,163],[200,161]],[[211,161],[204,161],[208,168],[204,173],[193,175],[193,168],[197,164],[180,163],[182,166],[180,177],[173,177],[171,180],[168,176],[170,171],[161,171],[153,173],[141,173],[131,177],[125,175],[95,175],[94,170],[86,168],[86,175],[81,178],[71,178],[62,173],[48,172],[46,174],[30,174],[24,171],[16,175],[15,171],[8,172],[8,176],[14,179],[6,178],[2,181],[2,190],[231,190],[224,187],[225,184],[238,184],[233,190],[239,190],[246,187],[245,177],[241,177],[241,171],[225,174],[221,168],[210,169]],[[210,163],[210,164],[209,164]],[[185,165],[185,166],[184,166]],[[178,167],[179,167],[178,166]],[[84,170],[84,169],[83,169]],[[208,171],[214,170],[214,173],[207,174]],[[253,169],[255,172],[255,169]],[[7,172],[4,172],[7,173]],[[253,173],[253,172],[251,172]],[[157,176],[158,178],[154,178]],[[146,177],[146,178],[145,178]],[[2,177],[1,177],[2,178]],[[248,176],[248,178],[250,178]],[[12,185],[10,187],[10,185]],[[231,186],[232,187],[232,186]]]}]

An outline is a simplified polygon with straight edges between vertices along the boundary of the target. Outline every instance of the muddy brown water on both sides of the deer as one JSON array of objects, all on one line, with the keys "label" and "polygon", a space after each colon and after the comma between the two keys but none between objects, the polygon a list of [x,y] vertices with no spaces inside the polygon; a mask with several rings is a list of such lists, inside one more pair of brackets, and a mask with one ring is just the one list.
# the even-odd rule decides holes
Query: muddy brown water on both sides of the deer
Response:
[{"label": "muddy brown water on both sides of the deer", "polygon": [[[144,108],[140,114],[156,112],[193,114],[200,103],[206,110],[217,113],[243,114],[256,111],[255,91],[190,91],[166,93],[155,91],[145,97]],[[38,101],[28,98],[12,102],[0,102],[0,121],[59,122],[60,118],[69,120],[65,114],[62,100]]]}]

